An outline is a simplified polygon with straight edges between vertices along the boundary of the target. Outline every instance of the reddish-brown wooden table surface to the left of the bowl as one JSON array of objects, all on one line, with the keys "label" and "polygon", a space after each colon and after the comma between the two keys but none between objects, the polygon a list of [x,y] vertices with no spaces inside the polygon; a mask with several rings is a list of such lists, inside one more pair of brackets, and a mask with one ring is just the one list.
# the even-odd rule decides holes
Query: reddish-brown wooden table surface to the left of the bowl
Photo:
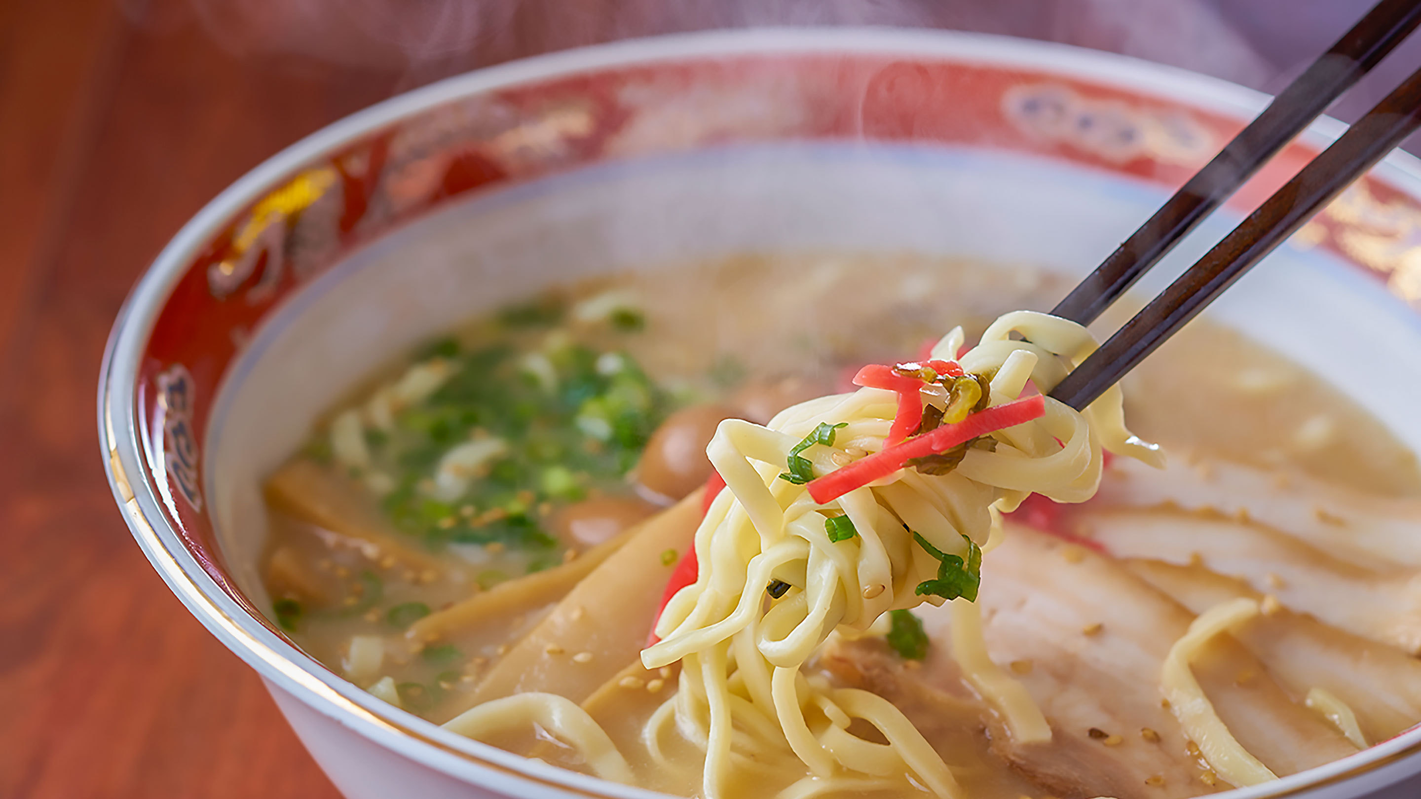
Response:
[{"label": "reddish-brown wooden table surface to the left of the bowl", "polygon": [[[0,799],[337,796],[114,506],[94,422],[109,324],[168,237],[263,158],[431,78],[615,34],[587,21],[610,4],[576,3],[581,27],[567,30],[541,24],[568,7],[551,0],[485,14],[510,38],[412,70],[388,50],[372,51],[384,65],[351,65],[358,37],[334,54],[253,48],[250,24],[195,21],[220,1],[0,1]],[[1039,6],[998,7],[1060,23],[1030,16]],[[288,38],[310,33],[287,23]],[[1124,47],[1101,36],[1086,43]]]}]

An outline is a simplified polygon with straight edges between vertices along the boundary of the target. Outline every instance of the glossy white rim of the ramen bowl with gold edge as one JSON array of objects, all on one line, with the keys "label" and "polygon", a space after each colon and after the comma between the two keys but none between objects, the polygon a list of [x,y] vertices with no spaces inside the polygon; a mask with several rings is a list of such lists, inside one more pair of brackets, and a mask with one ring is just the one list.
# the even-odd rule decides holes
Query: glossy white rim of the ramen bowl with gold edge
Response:
[{"label": "glossy white rim of the ramen bowl with gold edge", "polygon": [[[1219,78],[1066,44],[944,30],[767,27],[630,38],[536,55],[453,75],[344,117],[254,166],[185,223],[125,299],[104,350],[97,398],[104,469],[135,540],[188,611],[270,685],[367,739],[456,779],[509,795],[523,795],[539,785],[567,796],[665,796],[530,761],[387,705],[324,667],[311,668],[315,661],[310,655],[271,634],[233,603],[183,546],[152,483],[129,478],[146,476],[136,419],[141,357],[173,286],[207,237],[233,212],[270,191],[283,176],[374,129],[460,98],[578,73],[705,57],[834,53],[1029,67],[1241,118],[1252,118],[1269,101],[1266,94]],[[1344,129],[1340,121],[1324,117],[1309,127],[1302,139],[1326,146]],[[1394,152],[1376,173],[1404,193],[1421,196],[1421,161]],[[1295,796],[1370,773],[1417,752],[1421,752],[1421,726],[1306,772],[1219,796]]]}]

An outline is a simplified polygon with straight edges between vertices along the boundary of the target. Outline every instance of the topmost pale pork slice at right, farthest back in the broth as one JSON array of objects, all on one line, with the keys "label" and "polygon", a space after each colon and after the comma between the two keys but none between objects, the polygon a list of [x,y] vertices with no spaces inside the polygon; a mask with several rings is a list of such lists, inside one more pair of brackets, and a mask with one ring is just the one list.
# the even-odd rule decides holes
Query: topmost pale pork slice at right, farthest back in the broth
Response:
[{"label": "topmost pale pork slice at right, farthest back in the broth", "polygon": [[1115,458],[1097,499],[1246,516],[1339,560],[1384,572],[1421,566],[1421,500],[1374,496],[1290,471],[1174,458],[1164,469]]}]

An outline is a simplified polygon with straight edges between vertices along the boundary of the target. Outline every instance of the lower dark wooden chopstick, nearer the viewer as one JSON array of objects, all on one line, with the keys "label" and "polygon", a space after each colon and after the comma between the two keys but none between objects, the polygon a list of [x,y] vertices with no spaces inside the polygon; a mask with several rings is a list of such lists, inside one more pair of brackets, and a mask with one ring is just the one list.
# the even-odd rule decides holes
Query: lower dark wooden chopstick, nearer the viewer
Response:
[{"label": "lower dark wooden chopstick, nearer the viewer", "polygon": [[1421,128],[1421,70],[1151,300],[1071,371],[1052,397],[1076,409],[1090,405],[1417,128]]}]

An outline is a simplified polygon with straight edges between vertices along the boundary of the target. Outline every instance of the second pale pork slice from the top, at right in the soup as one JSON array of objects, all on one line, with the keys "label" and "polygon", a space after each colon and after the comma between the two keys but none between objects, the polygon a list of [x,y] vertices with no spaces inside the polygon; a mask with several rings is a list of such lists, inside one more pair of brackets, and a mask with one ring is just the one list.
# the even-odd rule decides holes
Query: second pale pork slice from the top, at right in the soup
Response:
[{"label": "second pale pork slice from the top, at right in the soup", "polygon": [[1175,510],[1081,510],[1076,530],[1117,557],[1199,563],[1340,630],[1421,653],[1421,580],[1378,574],[1252,522]]}]

